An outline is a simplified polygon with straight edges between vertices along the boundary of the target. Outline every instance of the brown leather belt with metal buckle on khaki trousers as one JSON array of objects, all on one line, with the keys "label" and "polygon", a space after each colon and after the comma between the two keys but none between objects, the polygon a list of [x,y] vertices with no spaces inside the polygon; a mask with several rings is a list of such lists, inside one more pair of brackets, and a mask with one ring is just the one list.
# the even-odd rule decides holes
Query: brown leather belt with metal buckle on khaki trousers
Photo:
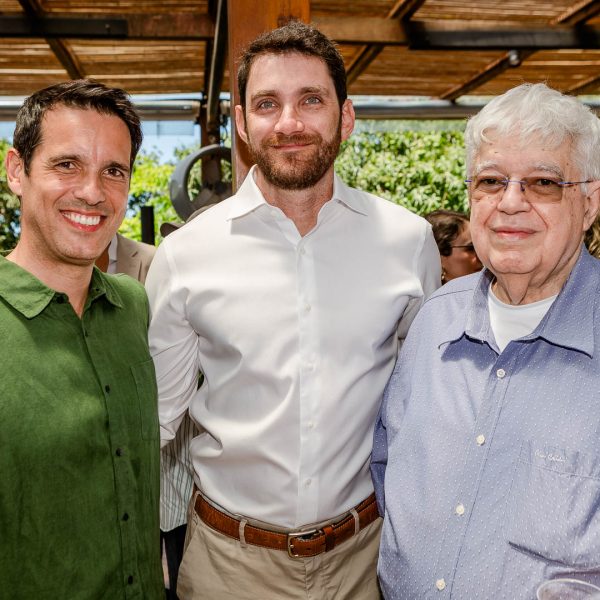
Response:
[{"label": "brown leather belt with metal buckle on khaki trousers", "polygon": [[[215,531],[235,540],[241,539],[241,520],[221,512],[200,494],[196,498],[194,508],[202,521]],[[358,527],[354,521],[354,511],[358,514]],[[307,558],[333,550],[342,542],[349,540],[355,533],[373,523],[379,517],[375,494],[371,494],[366,500],[363,500],[354,508],[354,511],[349,512],[346,517],[336,523],[306,531],[280,533],[254,527],[248,523],[245,523],[241,529],[247,544],[287,551],[292,558]]]}]

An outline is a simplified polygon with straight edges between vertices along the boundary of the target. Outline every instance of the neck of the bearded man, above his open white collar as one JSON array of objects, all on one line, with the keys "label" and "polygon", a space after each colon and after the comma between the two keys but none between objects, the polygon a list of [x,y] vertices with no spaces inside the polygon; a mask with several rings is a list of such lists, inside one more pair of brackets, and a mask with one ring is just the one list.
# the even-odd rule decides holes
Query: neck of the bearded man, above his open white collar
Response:
[{"label": "neck of the bearded man, above his open white collar", "polygon": [[314,228],[321,207],[333,195],[333,166],[313,187],[304,190],[278,188],[268,182],[259,169],[255,173],[256,185],[265,200],[271,206],[280,208],[293,221],[301,236]]}]

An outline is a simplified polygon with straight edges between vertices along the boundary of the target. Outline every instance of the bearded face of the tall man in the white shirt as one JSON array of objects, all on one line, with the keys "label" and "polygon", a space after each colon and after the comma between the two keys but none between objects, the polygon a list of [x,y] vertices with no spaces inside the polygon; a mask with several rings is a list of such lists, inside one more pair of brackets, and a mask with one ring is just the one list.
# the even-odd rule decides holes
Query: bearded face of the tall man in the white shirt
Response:
[{"label": "bearded face of the tall man in the white shirt", "polygon": [[340,111],[331,76],[319,58],[264,54],[252,64],[246,114],[236,125],[260,173],[271,185],[307,189],[326,173],[354,126],[352,105]]}]

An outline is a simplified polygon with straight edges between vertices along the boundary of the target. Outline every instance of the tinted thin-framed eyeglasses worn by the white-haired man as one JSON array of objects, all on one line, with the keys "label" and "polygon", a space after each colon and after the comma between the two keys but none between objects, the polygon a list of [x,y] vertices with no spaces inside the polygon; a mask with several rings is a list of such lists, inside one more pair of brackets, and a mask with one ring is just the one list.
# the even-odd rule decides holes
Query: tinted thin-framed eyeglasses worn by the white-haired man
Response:
[{"label": "tinted thin-framed eyeglasses worn by the white-haired man", "polygon": [[508,188],[509,183],[518,183],[525,198],[532,202],[558,202],[562,199],[564,188],[590,182],[591,180],[561,181],[552,177],[508,179],[506,177],[493,177],[489,175],[480,175],[474,179],[465,179],[465,183],[473,184],[472,193],[475,200],[482,199],[484,196],[501,196]]}]

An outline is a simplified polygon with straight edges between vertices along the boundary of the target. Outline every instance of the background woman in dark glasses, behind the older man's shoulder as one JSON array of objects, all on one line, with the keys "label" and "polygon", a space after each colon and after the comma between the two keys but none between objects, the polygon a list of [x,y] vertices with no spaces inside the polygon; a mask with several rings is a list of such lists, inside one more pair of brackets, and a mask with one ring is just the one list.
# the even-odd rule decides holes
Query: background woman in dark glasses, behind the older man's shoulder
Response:
[{"label": "background woman in dark glasses, behind the older man's shoulder", "polygon": [[467,215],[453,210],[434,210],[425,218],[431,223],[440,251],[442,283],[481,270]]}]

